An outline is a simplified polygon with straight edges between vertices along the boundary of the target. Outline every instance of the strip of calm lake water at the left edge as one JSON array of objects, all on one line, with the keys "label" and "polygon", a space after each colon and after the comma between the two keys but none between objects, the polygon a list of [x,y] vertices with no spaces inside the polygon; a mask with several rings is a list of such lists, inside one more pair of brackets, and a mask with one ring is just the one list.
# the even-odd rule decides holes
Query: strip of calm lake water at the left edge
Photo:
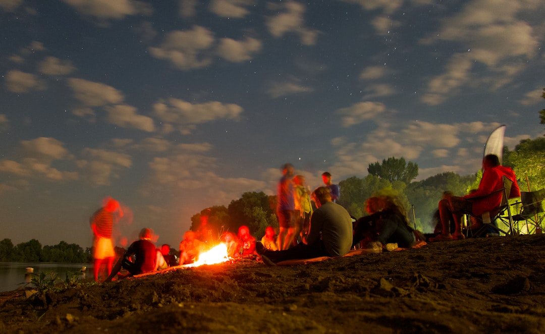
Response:
[{"label": "strip of calm lake water at the left edge", "polygon": [[[92,278],[93,265],[90,263],[0,262],[0,292],[13,291],[25,286],[24,283],[30,282],[30,277],[25,275],[27,268],[33,268],[34,274],[55,272],[60,279],[64,280],[67,272],[69,273],[69,277],[71,277],[71,272],[80,271],[82,267],[86,267],[87,270],[80,275],[80,280],[86,277]],[[32,286],[32,284],[28,284],[28,286]]]}]

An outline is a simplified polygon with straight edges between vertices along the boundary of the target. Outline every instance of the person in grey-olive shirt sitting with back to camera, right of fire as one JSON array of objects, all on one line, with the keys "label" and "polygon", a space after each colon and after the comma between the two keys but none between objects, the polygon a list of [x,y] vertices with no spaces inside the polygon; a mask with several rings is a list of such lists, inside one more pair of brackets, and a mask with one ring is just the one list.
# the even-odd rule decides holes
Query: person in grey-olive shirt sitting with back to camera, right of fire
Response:
[{"label": "person in grey-olive shirt sitting with back to camera, right of fire", "polygon": [[346,209],[331,201],[327,187],[318,187],[312,193],[316,207],[310,221],[310,230],[300,244],[282,251],[269,251],[258,242],[256,251],[267,265],[290,259],[340,257],[352,246],[352,218]]}]

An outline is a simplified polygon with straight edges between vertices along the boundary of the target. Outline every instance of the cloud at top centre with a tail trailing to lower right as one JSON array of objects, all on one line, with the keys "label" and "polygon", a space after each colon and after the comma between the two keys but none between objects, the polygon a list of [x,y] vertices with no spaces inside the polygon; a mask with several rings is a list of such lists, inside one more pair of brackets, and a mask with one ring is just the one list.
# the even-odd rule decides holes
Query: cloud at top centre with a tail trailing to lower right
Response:
[{"label": "cloud at top centre with a tail trailing to lower right", "polygon": [[314,45],[318,38],[318,31],[305,27],[304,15],[305,5],[302,3],[288,1],[283,5],[269,3],[271,10],[284,10],[275,16],[267,17],[265,24],[271,35],[275,38],[281,38],[287,33],[299,35],[301,43],[304,45]]}]

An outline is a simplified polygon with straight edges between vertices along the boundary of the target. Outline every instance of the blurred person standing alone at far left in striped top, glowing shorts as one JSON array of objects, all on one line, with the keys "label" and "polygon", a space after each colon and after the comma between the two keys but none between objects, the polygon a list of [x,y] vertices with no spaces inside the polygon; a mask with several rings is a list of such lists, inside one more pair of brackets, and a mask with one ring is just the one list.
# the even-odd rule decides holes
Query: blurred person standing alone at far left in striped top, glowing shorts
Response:
[{"label": "blurred person standing alone at far left in striped top, glowing shorts", "polygon": [[[116,215],[117,212],[117,215]],[[112,230],[113,223],[123,217],[123,210],[119,202],[112,197],[102,201],[102,208],[95,211],[89,222],[93,230],[93,274],[95,281],[99,281],[100,267],[106,263],[108,276],[112,273],[113,261],[116,254],[113,251]]]}]

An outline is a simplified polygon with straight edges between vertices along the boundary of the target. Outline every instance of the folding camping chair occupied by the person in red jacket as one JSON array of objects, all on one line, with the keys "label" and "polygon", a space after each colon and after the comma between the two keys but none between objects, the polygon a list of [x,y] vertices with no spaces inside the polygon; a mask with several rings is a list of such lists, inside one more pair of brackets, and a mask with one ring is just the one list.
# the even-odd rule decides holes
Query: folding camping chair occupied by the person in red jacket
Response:
[{"label": "folding camping chair occupied by the person in red jacket", "polygon": [[[478,216],[478,217],[474,216],[472,212],[465,212],[469,216],[473,216],[473,217],[476,217],[477,219],[482,220],[482,226],[478,228],[476,231],[473,231],[470,228],[468,228],[467,230],[468,237],[482,236],[483,234],[487,233],[488,230],[493,230],[499,235],[501,234],[515,235],[516,234],[513,227],[513,218],[511,216],[511,210],[509,210],[510,209],[509,195],[511,193],[511,185],[513,184],[513,182],[505,176],[503,177],[503,181],[504,181],[504,187],[499,190],[496,190],[485,196],[467,198],[469,201],[471,201],[471,199],[486,198],[488,196],[493,196],[493,195],[496,195],[498,192],[501,192],[501,203],[498,205],[498,207],[494,208],[493,210],[484,212],[481,216]],[[507,216],[505,215],[506,211],[507,211]],[[504,224],[509,229],[506,231],[499,228],[497,225],[498,221],[504,222]]]}]

